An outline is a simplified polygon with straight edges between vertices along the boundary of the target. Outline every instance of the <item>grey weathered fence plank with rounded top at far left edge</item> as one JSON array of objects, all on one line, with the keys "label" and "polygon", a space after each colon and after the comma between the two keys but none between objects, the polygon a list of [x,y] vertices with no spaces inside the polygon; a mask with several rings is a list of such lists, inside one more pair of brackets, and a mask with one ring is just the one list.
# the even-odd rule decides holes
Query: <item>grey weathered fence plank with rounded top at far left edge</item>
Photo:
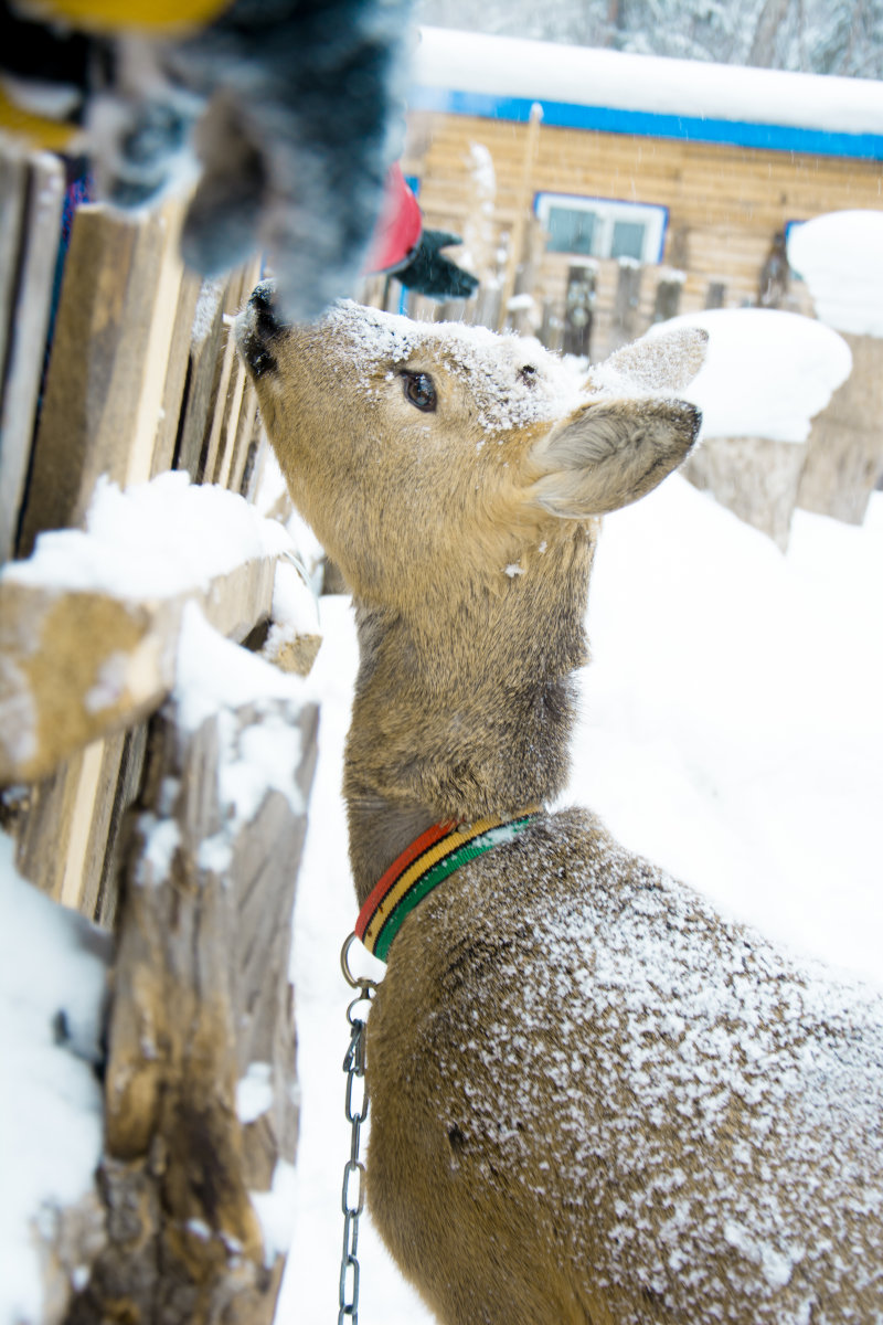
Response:
[{"label": "grey weathered fence plank with rounded top at far left edge", "polygon": [[[9,166],[11,170],[3,175],[15,176],[15,164]],[[3,204],[3,213],[9,213],[15,211],[16,180],[0,176],[0,191],[5,184],[11,186],[11,197]],[[16,217],[0,215],[0,233],[4,224],[9,223],[9,236],[0,240],[0,270],[4,262],[9,262],[9,269],[0,277],[5,286],[0,290],[0,317],[1,305],[12,305],[8,323],[3,317],[5,346],[0,352],[0,366],[5,367],[0,404],[0,563],[15,553],[19,510],[37,416],[65,199],[61,162],[48,152],[30,156],[25,192],[20,256],[8,252],[11,241],[19,237]],[[16,281],[15,294],[12,281]]]}]

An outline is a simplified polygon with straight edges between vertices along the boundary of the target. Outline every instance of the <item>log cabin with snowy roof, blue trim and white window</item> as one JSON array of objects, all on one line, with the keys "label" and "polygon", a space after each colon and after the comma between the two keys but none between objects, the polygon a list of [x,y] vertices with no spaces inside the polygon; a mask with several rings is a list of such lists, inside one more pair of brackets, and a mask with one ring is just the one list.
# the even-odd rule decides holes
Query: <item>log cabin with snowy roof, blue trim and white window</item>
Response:
[{"label": "log cabin with snowy roof, blue trim and white window", "polygon": [[408,105],[426,225],[483,282],[466,317],[592,358],[674,313],[812,313],[780,237],[882,205],[870,80],[424,28]]}]

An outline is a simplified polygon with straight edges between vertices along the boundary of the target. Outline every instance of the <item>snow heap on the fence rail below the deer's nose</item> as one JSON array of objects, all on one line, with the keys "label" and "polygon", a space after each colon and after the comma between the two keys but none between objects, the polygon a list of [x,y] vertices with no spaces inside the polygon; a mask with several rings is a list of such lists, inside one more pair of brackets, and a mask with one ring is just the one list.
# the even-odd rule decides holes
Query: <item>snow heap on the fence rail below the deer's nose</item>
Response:
[{"label": "snow heap on the fence rail below the deer's nose", "polygon": [[99,480],[86,529],[40,534],[28,560],[4,575],[25,584],[165,598],[204,588],[242,562],[277,556],[291,543],[237,493],[191,484],[180,470],[124,492]]}]

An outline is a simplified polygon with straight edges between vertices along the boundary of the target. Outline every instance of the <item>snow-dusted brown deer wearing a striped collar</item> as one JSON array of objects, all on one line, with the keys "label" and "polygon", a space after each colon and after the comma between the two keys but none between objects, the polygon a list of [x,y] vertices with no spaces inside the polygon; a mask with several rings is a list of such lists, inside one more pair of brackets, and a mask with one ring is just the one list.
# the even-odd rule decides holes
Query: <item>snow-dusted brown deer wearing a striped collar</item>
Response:
[{"label": "snow-dusted brown deer wearing a striped collar", "polygon": [[367,1194],[402,1273],[443,1325],[879,1325],[883,998],[552,808],[600,521],[694,447],[703,334],[579,380],[355,303],[290,326],[263,282],[236,335],[355,606]]}]

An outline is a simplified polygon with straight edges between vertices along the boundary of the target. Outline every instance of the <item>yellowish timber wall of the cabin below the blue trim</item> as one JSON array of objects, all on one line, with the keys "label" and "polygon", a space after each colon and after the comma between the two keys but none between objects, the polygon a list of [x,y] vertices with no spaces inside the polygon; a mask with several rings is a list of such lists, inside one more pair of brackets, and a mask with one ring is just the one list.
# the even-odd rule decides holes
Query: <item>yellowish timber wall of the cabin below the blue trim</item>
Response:
[{"label": "yellowish timber wall of the cabin below the blue trim", "polygon": [[[412,117],[405,168],[420,179],[429,225],[469,233],[477,224],[475,147],[491,163],[498,246],[512,231],[523,182],[527,129],[508,121],[426,111]],[[665,269],[683,273],[680,311],[707,306],[708,288],[723,286],[723,306],[755,303],[773,236],[788,221],[850,207],[879,207],[879,162],[755,151],[707,143],[540,126],[532,192],[651,203],[669,209],[662,269],[645,276],[641,319],[653,319],[653,295]],[[487,224],[487,212],[481,217]],[[486,244],[487,248],[487,244]],[[491,245],[492,248],[492,245]],[[537,309],[552,301],[563,315],[569,254],[548,253],[537,268]],[[602,264],[604,265],[604,264]],[[485,276],[486,273],[479,272]],[[495,273],[491,273],[495,276]],[[604,322],[616,293],[598,282],[597,352],[608,352]],[[782,305],[809,313],[802,282]],[[613,346],[612,346],[613,348]]]}]

